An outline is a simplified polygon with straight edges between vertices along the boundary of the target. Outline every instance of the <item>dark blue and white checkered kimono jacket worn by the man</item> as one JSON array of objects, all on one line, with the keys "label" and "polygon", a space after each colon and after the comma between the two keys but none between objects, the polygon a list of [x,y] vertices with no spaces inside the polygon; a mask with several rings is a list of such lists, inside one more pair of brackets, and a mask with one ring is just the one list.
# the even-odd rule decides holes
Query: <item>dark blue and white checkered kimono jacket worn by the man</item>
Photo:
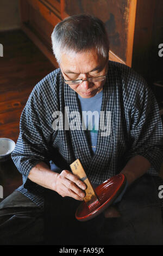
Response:
[{"label": "dark blue and white checkered kimono jacket worn by the man", "polygon": [[80,112],[77,93],[62,82],[57,69],[36,84],[21,114],[12,160],[23,177],[17,190],[34,203],[43,206],[44,188],[30,181],[28,174],[41,161],[49,168],[52,161],[60,170],[70,170],[79,159],[90,181],[100,184],[119,173],[131,157],[141,155],[152,164],[148,173],[158,175],[163,161],[158,104],[145,80],[128,66],[109,61],[101,111],[111,112],[110,133],[101,136],[99,129],[95,155],[82,128],[53,129],[55,111],[61,111],[65,124],[65,107]]}]

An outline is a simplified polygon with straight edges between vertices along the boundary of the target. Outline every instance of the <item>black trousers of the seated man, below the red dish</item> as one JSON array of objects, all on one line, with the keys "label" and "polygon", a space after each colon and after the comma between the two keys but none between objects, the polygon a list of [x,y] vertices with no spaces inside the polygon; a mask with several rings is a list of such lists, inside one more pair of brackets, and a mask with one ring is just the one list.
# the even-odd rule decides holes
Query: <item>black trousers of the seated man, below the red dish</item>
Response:
[{"label": "black trousers of the seated man, below the red dish", "polygon": [[1,245],[163,245],[158,190],[153,178],[143,175],[124,194],[116,208],[121,217],[104,214],[87,222],[74,217],[80,204],[46,190],[41,210],[20,192],[0,204]]}]

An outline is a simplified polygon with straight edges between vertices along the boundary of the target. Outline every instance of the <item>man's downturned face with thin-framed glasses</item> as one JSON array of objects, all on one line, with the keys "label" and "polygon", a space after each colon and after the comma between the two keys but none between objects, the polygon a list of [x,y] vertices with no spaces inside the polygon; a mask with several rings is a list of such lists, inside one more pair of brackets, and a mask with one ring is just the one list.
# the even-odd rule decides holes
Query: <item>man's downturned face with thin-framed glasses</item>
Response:
[{"label": "man's downturned face with thin-framed glasses", "polygon": [[[95,50],[84,53],[61,54],[60,68],[65,80],[86,80],[89,77],[104,76],[108,68],[108,61],[99,58]],[[70,86],[83,98],[90,98],[101,92],[105,80],[100,82],[83,81]]]}]

